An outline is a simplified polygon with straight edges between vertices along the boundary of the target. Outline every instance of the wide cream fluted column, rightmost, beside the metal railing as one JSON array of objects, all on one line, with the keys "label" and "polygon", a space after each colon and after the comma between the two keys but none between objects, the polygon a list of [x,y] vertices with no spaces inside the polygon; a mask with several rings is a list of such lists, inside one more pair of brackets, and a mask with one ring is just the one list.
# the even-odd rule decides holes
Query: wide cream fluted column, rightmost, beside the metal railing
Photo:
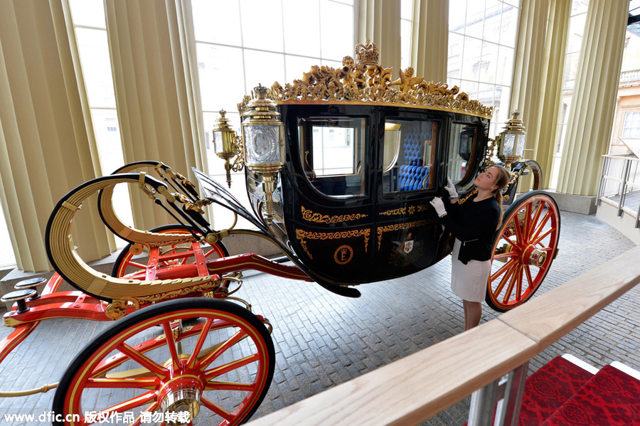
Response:
[{"label": "wide cream fluted column, rightmost, beside the metal railing", "polygon": [[628,14],[626,0],[589,2],[558,192],[597,193],[602,155],[609,149]]}]

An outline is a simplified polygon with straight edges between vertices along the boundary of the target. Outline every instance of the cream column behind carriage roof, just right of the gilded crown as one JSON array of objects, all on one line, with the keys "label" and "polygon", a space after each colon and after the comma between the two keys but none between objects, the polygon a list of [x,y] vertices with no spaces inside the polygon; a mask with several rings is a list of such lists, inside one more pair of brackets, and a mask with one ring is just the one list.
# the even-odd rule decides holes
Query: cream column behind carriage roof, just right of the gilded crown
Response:
[{"label": "cream column behind carriage roof, just right of the gilded crown", "polygon": [[413,0],[411,66],[425,81],[447,82],[449,0]]}]

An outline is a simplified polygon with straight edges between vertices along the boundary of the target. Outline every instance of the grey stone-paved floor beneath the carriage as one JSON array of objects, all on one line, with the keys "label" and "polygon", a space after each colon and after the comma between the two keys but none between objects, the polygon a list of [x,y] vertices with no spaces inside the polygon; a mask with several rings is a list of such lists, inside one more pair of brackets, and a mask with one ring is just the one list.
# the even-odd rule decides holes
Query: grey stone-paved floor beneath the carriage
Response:
[{"label": "grey stone-paved floor beneath the carriage", "polygon": [[[594,215],[562,212],[561,218],[560,254],[540,294],[634,247]],[[245,277],[239,296],[274,324],[277,358],[271,388],[255,417],[460,333],[462,303],[449,290],[449,270],[447,258],[410,277],[365,284],[359,299],[337,296],[314,283],[262,274]],[[530,372],[562,353],[597,367],[623,361],[640,370],[639,293],[640,286],[538,354],[530,362]],[[497,315],[484,306],[482,321]],[[71,319],[44,321],[0,365],[0,390],[57,382],[74,354],[107,325]],[[1,329],[0,336],[10,331]],[[53,391],[0,399],[0,416],[46,412],[52,400]],[[468,405],[467,398],[424,424],[462,425]],[[4,420],[0,424],[26,425]]]}]

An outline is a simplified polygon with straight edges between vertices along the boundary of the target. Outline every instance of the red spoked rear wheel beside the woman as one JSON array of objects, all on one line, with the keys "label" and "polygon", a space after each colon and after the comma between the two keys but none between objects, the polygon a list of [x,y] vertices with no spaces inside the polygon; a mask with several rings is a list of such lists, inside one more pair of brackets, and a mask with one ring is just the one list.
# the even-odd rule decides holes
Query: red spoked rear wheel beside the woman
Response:
[{"label": "red spoked rear wheel beside the woman", "polygon": [[538,290],[558,249],[560,211],[542,191],[524,194],[504,213],[496,231],[486,303],[504,312]]}]

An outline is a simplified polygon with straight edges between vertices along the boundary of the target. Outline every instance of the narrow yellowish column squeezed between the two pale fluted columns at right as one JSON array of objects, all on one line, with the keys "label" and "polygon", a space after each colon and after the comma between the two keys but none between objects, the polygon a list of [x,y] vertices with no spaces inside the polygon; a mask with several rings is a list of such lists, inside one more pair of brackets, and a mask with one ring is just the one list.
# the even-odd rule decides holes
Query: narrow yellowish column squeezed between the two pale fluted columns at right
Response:
[{"label": "narrow yellowish column squeezed between the two pale fluted columns at right", "polygon": [[549,10],[543,75],[541,87],[539,121],[534,125],[538,129],[538,140],[533,141],[535,159],[545,173],[545,188],[548,188],[553,163],[553,151],[558,140],[558,119],[560,115],[560,97],[562,79],[565,75],[565,48],[569,29],[570,0],[552,0]]}]

